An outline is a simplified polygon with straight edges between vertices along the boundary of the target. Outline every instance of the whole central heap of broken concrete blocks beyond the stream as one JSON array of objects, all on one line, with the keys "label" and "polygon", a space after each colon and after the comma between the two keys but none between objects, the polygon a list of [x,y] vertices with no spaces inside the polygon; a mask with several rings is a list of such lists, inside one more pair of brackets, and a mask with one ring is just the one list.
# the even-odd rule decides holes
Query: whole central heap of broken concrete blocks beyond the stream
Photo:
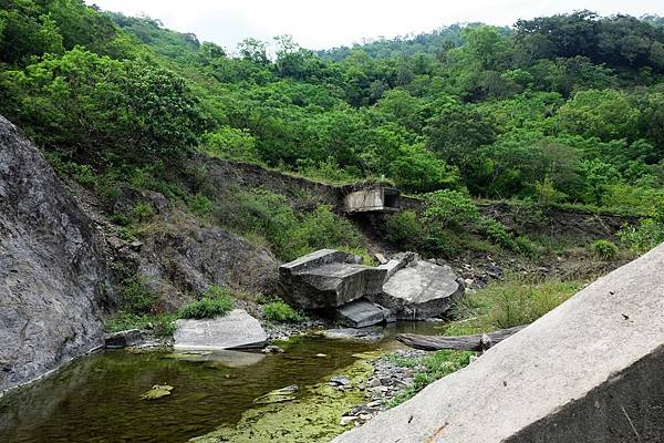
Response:
[{"label": "whole central heap of broken concrete blocks beyond the stream", "polygon": [[345,324],[442,316],[464,293],[452,268],[401,253],[381,266],[364,266],[352,254],[321,249],[282,265],[283,298],[301,309],[338,308]]}]

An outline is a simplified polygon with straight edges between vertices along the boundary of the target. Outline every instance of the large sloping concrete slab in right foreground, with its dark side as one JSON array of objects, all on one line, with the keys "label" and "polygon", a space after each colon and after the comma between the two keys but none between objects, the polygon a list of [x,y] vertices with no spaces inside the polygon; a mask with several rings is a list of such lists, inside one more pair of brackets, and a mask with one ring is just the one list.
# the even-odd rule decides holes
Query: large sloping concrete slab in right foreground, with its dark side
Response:
[{"label": "large sloping concrete slab in right foreground, with its dark side", "polygon": [[664,245],[336,443],[664,441]]}]

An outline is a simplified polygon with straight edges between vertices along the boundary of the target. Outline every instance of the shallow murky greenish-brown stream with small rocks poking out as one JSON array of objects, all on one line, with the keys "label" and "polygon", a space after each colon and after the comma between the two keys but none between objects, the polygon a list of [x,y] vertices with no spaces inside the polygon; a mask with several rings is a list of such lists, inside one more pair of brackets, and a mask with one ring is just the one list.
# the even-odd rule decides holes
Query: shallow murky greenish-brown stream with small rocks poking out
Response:
[{"label": "shallow murky greenish-brown stream with small rocks poking out", "polygon": [[[397,348],[397,332],[439,333],[442,327],[391,324],[385,338],[373,342],[302,336],[274,356],[94,353],[0,399],[0,442],[184,442],[232,425],[272,390],[313,385],[352,364],[357,353]],[[169,384],[173,393],[141,400],[154,384]]]}]

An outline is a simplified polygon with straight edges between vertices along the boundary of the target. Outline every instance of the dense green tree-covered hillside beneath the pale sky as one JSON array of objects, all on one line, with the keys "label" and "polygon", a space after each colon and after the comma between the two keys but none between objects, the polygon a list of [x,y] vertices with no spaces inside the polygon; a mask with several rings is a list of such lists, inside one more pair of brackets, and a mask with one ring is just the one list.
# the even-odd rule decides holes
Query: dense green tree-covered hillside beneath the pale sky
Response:
[{"label": "dense green tree-covered hillside beneath the pale sky", "polygon": [[89,184],[159,177],[200,150],[329,182],[661,216],[656,16],[457,24],[320,52],[282,35],[272,55],[81,0],[0,6],[0,113]]}]

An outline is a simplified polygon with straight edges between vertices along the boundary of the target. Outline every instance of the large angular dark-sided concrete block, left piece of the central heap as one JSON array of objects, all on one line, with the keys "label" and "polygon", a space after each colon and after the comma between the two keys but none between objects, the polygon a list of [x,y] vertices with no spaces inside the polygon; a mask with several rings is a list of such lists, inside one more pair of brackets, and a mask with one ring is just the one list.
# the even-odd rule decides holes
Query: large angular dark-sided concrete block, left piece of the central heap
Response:
[{"label": "large angular dark-sided concrete block, left piece of the central heap", "polygon": [[355,256],[321,249],[279,267],[282,297],[302,309],[339,307],[381,292],[386,270],[355,264]]}]

